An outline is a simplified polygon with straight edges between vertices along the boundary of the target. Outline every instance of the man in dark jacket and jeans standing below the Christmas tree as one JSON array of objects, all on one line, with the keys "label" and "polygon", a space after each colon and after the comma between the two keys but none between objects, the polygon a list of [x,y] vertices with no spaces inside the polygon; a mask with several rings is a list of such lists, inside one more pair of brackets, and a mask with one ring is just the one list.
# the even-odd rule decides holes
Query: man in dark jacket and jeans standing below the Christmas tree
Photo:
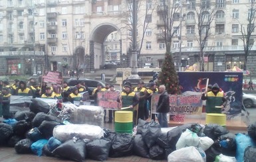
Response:
[{"label": "man in dark jacket and jeans standing below the Christmas tree", "polygon": [[170,99],[166,92],[166,86],[160,85],[159,87],[160,97],[158,105],[156,106],[156,112],[158,112],[158,122],[161,128],[168,128],[167,113],[170,111]]}]

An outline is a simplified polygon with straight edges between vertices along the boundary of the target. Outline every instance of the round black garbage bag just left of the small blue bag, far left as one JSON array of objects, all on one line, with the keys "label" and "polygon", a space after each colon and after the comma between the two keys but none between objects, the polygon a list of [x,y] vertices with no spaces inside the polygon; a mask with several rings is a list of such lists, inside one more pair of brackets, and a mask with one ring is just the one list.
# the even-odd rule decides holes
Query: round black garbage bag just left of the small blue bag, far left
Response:
[{"label": "round black garbage bag just left of the small blue bag, far left", "polygon": [[21,137],[25,137],[26,133],[31,130],[32,125],[31,122],[27,122],[26,120],[19,120],[14,126],[13,126],[13,134]]}]

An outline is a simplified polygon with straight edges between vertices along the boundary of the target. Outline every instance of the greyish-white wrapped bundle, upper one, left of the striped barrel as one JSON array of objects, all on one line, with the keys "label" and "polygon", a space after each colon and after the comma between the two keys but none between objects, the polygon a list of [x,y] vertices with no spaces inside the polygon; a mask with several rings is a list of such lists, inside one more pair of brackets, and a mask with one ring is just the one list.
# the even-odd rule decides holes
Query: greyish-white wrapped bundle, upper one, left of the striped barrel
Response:
[{"label": "greyish-white wrapped bundle, upper one, left of the striped barrel", "polygon": [[100,106],[78,106],[71,114],[70,122],[73,124],[91,124],[103,128],[104,110]]}]

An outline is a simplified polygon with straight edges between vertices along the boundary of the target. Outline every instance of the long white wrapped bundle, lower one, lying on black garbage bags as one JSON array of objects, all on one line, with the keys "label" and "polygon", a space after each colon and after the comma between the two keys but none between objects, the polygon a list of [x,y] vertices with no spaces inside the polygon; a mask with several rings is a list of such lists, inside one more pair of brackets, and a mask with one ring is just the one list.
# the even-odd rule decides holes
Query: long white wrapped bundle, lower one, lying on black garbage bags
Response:
[{"label": "long white wrapped bundle, lower one, lying on black garbage bags", "polygon": [[67,124],[56,126],[53,129],[53,137],[61,142],[72,138],[95,140],[104,136],[104,131],[99,126],[89,124]]}]

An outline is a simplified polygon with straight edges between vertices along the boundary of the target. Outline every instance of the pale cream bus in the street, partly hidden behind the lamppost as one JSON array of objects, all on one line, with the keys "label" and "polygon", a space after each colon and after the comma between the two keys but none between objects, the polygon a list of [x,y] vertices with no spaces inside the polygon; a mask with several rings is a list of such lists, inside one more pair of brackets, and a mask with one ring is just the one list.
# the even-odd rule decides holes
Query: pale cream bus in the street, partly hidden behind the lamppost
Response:
[{"label": "pale cream bus in the street, partly hidden behind the lamppost", "polygon": [[[131,68],[116,68],[116,83],[122,84],[131,75]],[[144,83],[154,81],[154,75],[159,73],[161,68],[138,68],[138,75]]]}]

